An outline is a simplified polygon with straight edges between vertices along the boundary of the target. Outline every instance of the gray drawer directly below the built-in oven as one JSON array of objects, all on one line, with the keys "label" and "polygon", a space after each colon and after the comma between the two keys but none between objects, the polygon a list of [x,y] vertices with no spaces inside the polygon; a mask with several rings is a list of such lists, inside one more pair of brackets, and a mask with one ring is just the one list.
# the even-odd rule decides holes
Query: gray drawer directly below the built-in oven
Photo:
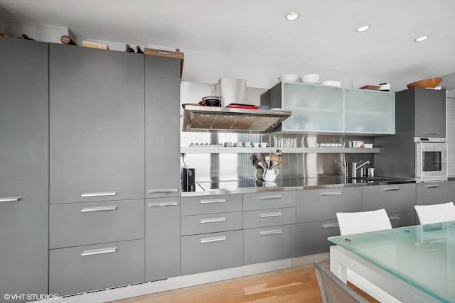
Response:
[{"label": "gray drawer directly below the built-in oven", "polygon": [[417,205],[447,203],[455,200],[455,182],[419,183],[417,186]]}]

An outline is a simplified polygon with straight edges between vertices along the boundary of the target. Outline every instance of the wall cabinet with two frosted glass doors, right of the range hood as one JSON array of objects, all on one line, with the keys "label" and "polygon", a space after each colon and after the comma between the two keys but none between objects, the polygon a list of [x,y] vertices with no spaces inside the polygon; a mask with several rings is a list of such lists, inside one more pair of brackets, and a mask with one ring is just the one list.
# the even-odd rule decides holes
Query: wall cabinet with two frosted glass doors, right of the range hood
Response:
[{"label": "wall cabinet with two frosted glass doors, right of the range hood", "polygon": [[395,133],[393,93],[280,82],[267,97],[270,106],[292,111],[277,131],[370,136]]}]

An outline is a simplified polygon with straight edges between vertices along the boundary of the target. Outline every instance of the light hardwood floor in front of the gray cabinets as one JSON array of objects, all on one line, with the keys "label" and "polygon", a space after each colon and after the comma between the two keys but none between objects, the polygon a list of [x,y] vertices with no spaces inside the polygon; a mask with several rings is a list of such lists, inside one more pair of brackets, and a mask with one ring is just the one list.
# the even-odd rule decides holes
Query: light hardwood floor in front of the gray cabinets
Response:
[{"label": "light hardwood floor in front of the gray cabinets", "polygon": [[[328,267],[328,263],[325,263]],[[367,294],[353,289],[370,302],[378,302]],[[322,302],[313,265],[213,282],[193,287],[158,292],[141,297],[112,301],[111,303],[272,303]]]}]

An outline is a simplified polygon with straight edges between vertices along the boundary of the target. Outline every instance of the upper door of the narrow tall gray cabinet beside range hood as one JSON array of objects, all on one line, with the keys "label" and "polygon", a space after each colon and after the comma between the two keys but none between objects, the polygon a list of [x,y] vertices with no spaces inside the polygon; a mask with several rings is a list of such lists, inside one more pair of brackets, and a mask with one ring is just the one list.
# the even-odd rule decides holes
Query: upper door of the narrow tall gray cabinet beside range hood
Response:
[{"label": "upper door of the narrow tall gray cabinet beside range hood", "polygon": [[180,60],[145,56],[146,197],[180,194]]}]

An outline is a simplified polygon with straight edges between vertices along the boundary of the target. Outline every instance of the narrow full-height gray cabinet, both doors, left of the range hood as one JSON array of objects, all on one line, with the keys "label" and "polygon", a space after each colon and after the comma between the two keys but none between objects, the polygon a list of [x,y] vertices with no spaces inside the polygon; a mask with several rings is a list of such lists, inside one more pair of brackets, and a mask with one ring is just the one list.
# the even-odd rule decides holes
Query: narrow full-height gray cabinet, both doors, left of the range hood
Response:
[{"label": "narrow full-height gray cabinet, both doors, left of the range hood", "polygon": [[145,56],[146,280],[181,273],[180,60]]}]

